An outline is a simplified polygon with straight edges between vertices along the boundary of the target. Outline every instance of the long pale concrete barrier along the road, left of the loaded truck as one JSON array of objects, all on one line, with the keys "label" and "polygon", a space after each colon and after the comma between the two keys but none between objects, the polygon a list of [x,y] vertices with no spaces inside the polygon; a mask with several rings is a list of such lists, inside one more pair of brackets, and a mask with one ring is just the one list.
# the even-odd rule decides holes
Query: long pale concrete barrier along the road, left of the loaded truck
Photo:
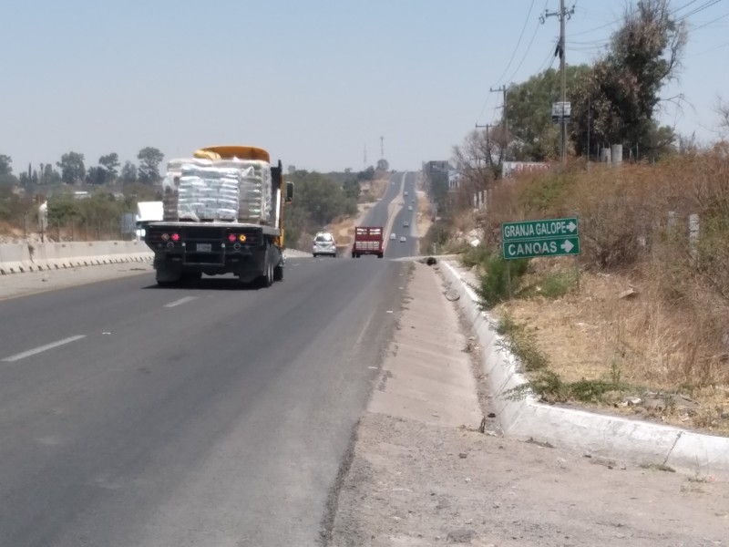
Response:
[{"label": "long pale concrete barrier along the road, left of the loaded truck", "polygon": [[149,262],[141,242],[14,243],[0,245],[0,274],[23,274],[110,263]]}]

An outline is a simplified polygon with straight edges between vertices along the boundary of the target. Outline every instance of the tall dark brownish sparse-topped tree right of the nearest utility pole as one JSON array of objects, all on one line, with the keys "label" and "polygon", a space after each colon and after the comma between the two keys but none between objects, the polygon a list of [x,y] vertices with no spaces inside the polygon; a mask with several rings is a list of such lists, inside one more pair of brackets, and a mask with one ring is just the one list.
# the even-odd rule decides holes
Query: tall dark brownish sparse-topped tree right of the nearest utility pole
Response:
[{"label": "tall dark brownish sparse-topped tree right of the nearest utility pole", "polygon": [[580,78],[571,124],[578,153],[584,153],[588,131],[592,142],[638,147],[642,157],[673,148],[665,146],[668,128],[653,116],[662,88],[678,77],[686,46],[685,23],[674,12],[669,0],[631,6],[605,57]]}]

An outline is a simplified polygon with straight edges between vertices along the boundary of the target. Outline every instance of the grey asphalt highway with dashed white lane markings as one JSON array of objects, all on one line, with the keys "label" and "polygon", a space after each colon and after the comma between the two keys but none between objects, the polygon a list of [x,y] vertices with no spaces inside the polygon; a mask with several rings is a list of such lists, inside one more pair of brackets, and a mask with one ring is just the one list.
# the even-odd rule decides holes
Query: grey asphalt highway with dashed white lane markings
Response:
[{"label": "grey asphalt highway with dashed white lane markings", "polygon": [[405,283],[291,259],[270,289],[142,274],[0,302],[0,545],[317,544]]}]

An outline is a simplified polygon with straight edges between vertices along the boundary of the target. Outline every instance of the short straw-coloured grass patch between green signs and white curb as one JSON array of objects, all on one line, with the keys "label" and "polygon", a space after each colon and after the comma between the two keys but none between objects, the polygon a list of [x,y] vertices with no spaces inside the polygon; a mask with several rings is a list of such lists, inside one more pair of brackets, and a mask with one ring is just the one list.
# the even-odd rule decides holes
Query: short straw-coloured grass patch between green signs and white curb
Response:
[{"label": "short straw-coloured grass patch between green signs and white curb", "polygon": [[[527,276],[528,282],[539,283],[539,277],[554,268],[554,264],[539,266]],[[631,288],[635,294],[621,298]],[[579,292],[555,300],[515,299],[494,310],[496,315],[507,312],[515,322],[527,325],[548,357],[550,370],[565,382],[605,380],[618,374],[634,396],[681,394],[690,397],[688,410],[667,405],[647,414],[729,435],[729,367],[708,349],[713,346],[713,325],[699,313],[687,321],[685,315],[666,308],[649,280],[630,274],[583,273]],[[614,407],[612,403],[623,395],[607,398],[602,406],[644,411]]]}]

